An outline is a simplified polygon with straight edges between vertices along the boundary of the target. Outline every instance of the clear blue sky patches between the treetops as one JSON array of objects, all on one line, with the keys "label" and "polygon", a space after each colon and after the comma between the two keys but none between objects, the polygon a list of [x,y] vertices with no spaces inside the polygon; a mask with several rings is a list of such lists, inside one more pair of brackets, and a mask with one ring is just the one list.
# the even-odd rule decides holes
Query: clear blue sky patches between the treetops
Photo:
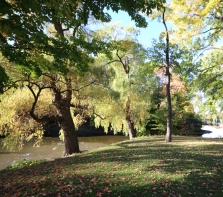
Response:
[{"label": "clear blue sky patches between the treetops", "polygon": [[[134,21],[131,21],[131,17],[123,11],[119,11],[118,13],[109,11],[109,14],[112,17],[111,22],[122,22],[122,25],[133,25],[135,26]],[[147,19],[148,27],[140,28],[140,35],[138,37],[139,43],[141,43],[145,48],[151,46],[151,41],[153,38],[158,39],[161,32],[163,32],[164,26],[161,22],[151,21],[151,19]]]}]

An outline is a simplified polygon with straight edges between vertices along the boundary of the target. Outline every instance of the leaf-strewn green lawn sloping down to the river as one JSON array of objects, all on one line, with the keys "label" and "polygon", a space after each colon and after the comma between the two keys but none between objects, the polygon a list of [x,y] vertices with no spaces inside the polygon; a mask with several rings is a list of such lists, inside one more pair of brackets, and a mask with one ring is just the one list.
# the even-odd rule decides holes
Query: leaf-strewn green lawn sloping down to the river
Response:
[{"label": "leaf-strewn green lawn sloping down to the river", "polygon": [[0,196],[223,196],[223,139],[124,141],[0,171]]}]

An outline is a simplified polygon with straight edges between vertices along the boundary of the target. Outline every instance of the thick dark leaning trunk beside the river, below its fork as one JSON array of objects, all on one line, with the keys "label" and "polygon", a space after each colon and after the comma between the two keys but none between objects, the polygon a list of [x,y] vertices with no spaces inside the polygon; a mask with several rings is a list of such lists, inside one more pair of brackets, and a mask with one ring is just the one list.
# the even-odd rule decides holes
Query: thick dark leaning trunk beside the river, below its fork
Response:
[{"label": "thick dark leaning trunk beside the river, below its fork", "polygon": [[58,122],[64,132],[64,156],[80,152],[78,138],[70,109],[60,110],[60,119]]}]

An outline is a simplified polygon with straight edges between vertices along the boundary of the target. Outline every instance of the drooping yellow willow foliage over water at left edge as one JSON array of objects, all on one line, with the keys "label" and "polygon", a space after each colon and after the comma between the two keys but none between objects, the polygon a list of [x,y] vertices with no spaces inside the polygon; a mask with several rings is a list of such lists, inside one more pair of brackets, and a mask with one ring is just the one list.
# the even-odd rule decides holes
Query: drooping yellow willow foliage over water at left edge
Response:
[{"label": "drooping yellow willow foliage over water at left edge", "polygon": [[[28,88],[10,90],[0,96],[0,135],[5,135],[3,147],[9,150],[21,149],[24,141],[34,139],[38,146],[43,136],[42,125],[33,120],[29,114],[33,97]],[[49,100],[42,95],[37,113],[44,115]]]}]

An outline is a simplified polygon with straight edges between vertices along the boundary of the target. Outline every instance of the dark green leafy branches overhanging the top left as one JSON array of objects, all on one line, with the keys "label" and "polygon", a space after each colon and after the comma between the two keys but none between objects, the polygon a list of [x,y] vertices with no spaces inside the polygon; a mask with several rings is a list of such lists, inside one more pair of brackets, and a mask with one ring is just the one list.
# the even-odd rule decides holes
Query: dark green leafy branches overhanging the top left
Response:
[{"label": "dark green leafy branches overhanging the top left", "polygon": [[[84,26],[94,17],[109,22],[111,16],[105,10],[128,12],[137,26],[146,27],[145,18],[139,11],[150,14],[152,9],[160,9],[164,0],[154,1],[1,1],[0,44],[1,53],[10,61],[22,65],[35,76],[42,73],[40,58],[50,70],[67,74],[67,65],[74,66],[76,72],[87,70],[93,58],[106,51],[100,40],[86,38]],[[48,27],[54,27],[49,31]],[[90,35],[90,32],[88,32]],[[51,56],[51,60],[47,56]],[[38,55],[38,58],[35,58]],[[1,86],[7,76],[1,69]]]}]

